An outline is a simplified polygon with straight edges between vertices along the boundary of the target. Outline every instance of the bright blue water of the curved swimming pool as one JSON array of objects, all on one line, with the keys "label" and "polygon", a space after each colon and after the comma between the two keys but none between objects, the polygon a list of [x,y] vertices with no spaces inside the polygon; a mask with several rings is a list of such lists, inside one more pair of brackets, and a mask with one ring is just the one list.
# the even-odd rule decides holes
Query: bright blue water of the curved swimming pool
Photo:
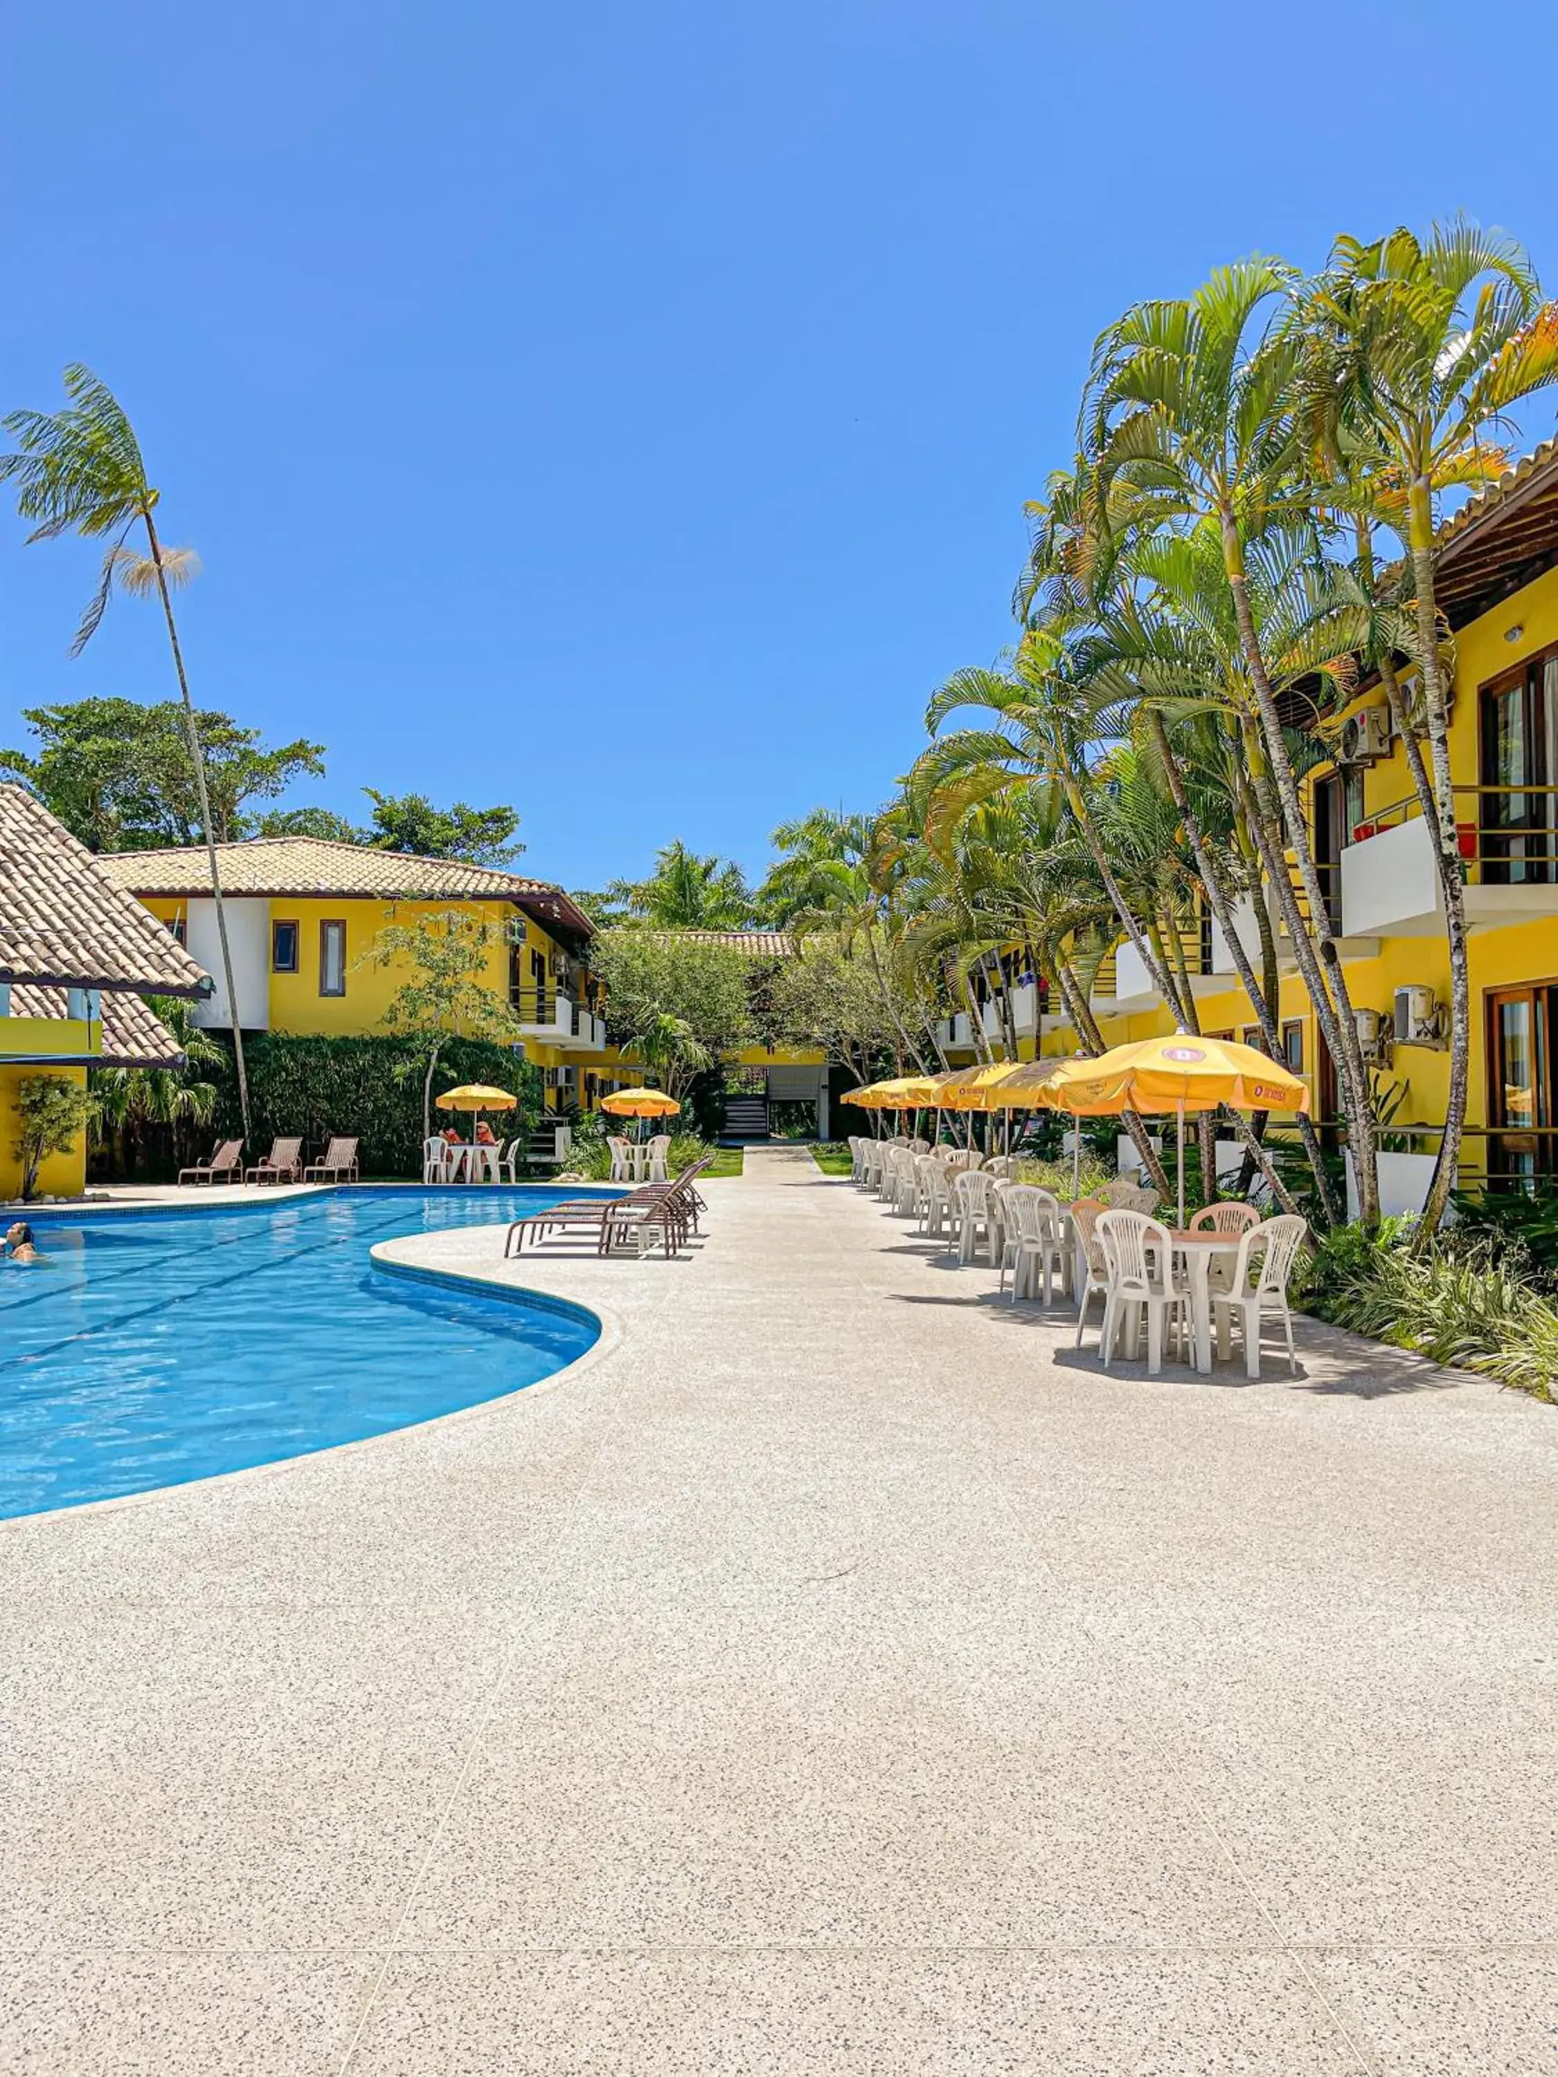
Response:
[{"label": "bright blue water of the curved swimming pool", "polygon": [[584,1311],[374,1269],[399,1234],[582,1190],[334,1190],[229,1211],[33,1219],[0,1267],[0,1516],[382,1435],[534,1385],[596,1340]]}]

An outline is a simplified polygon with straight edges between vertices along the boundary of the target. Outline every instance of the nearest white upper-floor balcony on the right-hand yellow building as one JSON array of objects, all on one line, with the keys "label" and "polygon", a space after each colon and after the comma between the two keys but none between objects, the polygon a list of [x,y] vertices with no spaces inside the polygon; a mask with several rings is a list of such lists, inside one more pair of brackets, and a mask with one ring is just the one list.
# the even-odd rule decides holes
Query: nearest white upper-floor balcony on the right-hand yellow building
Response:
[{"label": "nearest white upper-floor balcony on the right-hand yellow building", "polygon": [[[1558,787],[1458,785],[1454,793],[1467,926],[1558,916]],[[1359,825],[1342,852],[1340,885],[1348,939],[1444,935],[1433,831],[1417,795]]]}]

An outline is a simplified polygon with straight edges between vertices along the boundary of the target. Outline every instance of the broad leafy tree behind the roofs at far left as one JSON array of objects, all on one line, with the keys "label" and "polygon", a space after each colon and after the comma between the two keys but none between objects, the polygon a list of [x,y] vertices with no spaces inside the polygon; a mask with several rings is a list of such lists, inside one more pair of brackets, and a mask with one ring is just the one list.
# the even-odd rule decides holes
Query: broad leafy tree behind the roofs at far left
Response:
[{"label": "broad leafy tree behind the roofs at far left", "polygon": [[[195,843],[204,810],[189,731],[177,700],[66,700],[27,706],[37,752],[0,750],[0,771],[37,793],[91,852],[145,852]],[[274,800],[301,773],[324,771],[324,748],[297,737],[274,750],[216,708],[199,708],[206,800],[218,843],[249,835],[245,808]]]}]

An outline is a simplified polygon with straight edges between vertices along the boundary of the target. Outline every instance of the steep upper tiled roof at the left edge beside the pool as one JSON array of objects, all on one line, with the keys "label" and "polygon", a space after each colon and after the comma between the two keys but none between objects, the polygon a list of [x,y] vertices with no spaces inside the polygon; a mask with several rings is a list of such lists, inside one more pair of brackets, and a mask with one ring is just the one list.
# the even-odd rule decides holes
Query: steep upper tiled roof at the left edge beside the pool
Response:
[{"label": "steep upper tiled roof at the left edge beside the pool", "polygon": [[104,866],[27,787],[0,783],[0,980],[206,995],[206,972]]}]

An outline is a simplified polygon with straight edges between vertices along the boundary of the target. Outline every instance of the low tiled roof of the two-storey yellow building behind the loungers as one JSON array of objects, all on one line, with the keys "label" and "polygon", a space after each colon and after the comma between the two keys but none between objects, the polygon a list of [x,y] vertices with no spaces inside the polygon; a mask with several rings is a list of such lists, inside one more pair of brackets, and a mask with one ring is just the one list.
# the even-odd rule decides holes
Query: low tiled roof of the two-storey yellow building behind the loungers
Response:
[{"label": "low tiled roof of the two-storey yellow building behind the loungers", "polygon": [[[553,895],[546,881],[494,866],[467,866],[459,858],[415,858],[380,852],[372,843],[334,843],[328,837],[253,837],[218,843],[222,893],[231,895],[382,895],[386,899],[442,899],[447,895],[517,901]],[[135,895],[208,895],[212,874],[206,845],[170,852],[116,852],[104,866],[118,887]]]}]

